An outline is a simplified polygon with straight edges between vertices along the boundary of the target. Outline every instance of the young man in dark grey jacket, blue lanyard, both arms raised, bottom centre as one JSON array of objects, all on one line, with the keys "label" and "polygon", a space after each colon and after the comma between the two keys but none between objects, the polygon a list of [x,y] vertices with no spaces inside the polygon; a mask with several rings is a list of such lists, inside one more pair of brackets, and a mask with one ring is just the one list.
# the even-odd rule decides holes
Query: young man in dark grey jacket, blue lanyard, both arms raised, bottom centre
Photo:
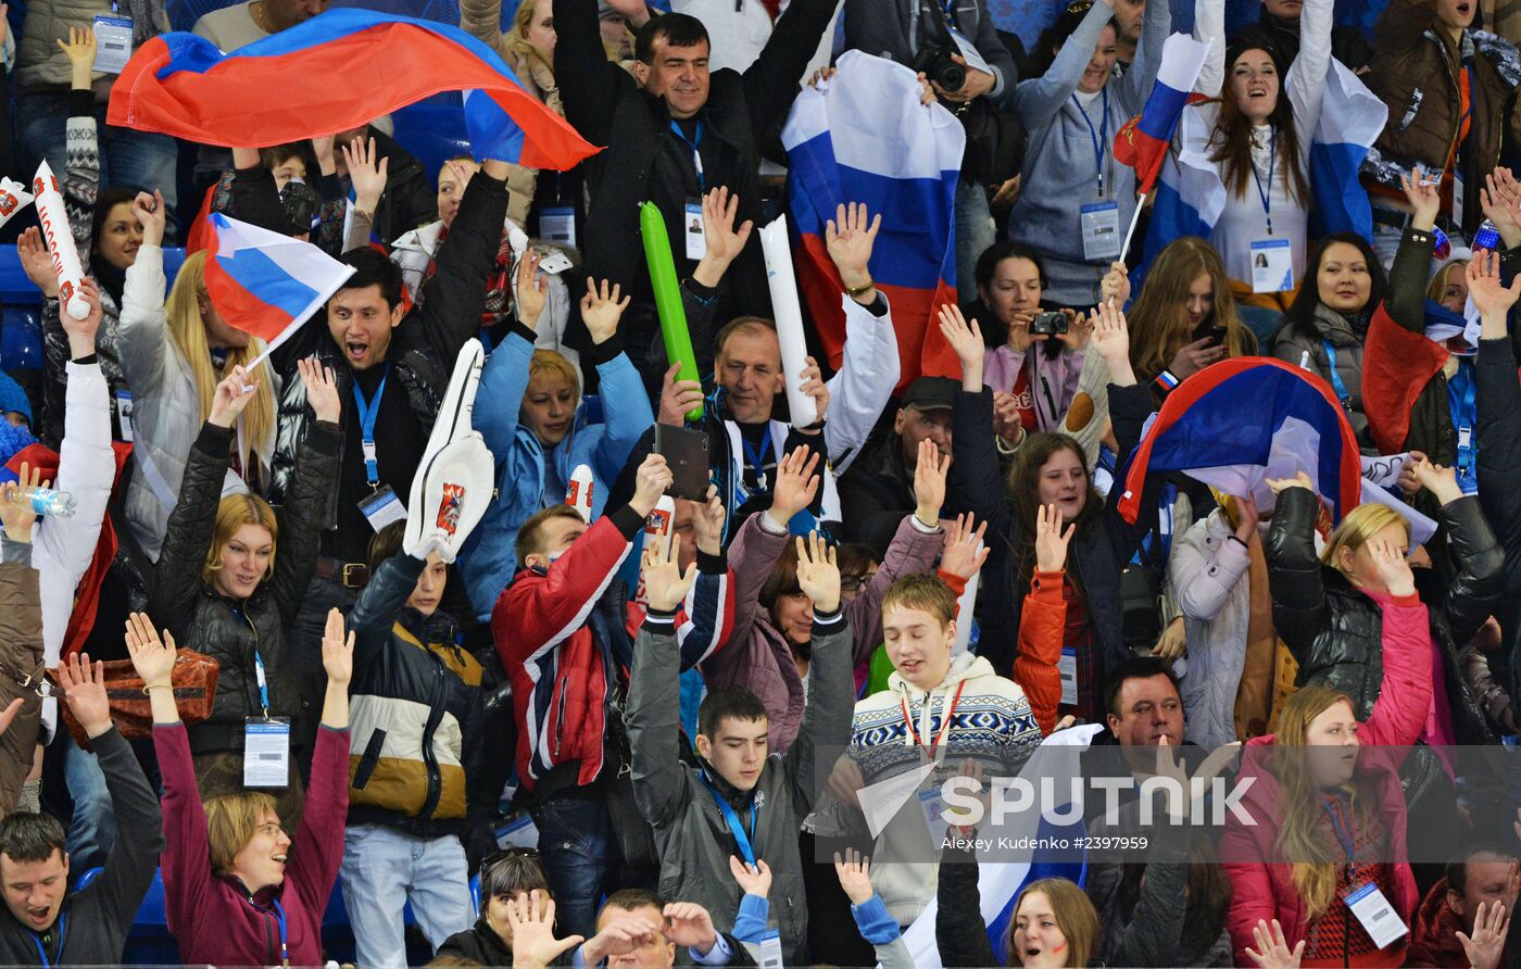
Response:
[{"label": "young man in dark grey jacket, blue lanyard, both arms raised, bottom centre", "polygon": [[[710,504],[719,504],[716,491]],[[788,966],[803,964],[808,940],[799,821],[821,789],[817,751],[843,747],[849,738],[846,710],[855,688],[834,549],[826,551],[817,532],[808,542],[800,537],[797,546],[797,581],[814,602],[814,650],[808,710],[785,755],[770,753],[760,700],[744,688],[724,688],[698,709],[698,765],[681,762],[675,607],[697,572],[683,573],[659,549],[646,558],[649,610],[634,645],[625,715],[634,799],[654,826],[660,853],[660,896],[703,905],[713,925],[727,931],[744,894],[733,878],[735,858],[767,866],[773,876],[768,923],[780,931]]]}]

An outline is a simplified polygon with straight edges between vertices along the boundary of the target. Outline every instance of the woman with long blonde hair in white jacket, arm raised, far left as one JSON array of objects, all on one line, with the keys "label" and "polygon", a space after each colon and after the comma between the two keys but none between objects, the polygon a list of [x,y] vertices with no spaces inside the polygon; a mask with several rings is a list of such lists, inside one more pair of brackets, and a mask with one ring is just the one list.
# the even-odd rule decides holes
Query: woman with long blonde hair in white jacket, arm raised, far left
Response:
[{"label": "woman with long blonde hair in white jacket, arm raised, far left", "polygon": [[[234,330],[205,289],[205,253],[190,256],[164,300],[164,199],[138,193],[132,213],[143,246],[126,271],[122,295],[122,368],[132,388],[135,462],[126,491],[132,537],[157,560],[179,496],[196,427],[211,414],[216,385],[249,364],[263,344]],[[262,491],[275,447],[275,388],[268,364],[230,443],[228,490]]]}]

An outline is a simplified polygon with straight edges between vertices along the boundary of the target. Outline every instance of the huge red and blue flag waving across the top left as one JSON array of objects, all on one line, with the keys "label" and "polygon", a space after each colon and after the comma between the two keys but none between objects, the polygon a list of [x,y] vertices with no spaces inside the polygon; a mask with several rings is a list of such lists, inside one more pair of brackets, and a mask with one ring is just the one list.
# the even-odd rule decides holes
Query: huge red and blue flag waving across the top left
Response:
[{"label": "huge red and blue flag waving across the top left", "polygon": [[459,27],[335,9],[222,53],[193,33],[137,49],[111,88],[111,125],[204,145],[266,146],[345,131],[441,91],[465,91],[478,158],[569,169],[598,149]]}]

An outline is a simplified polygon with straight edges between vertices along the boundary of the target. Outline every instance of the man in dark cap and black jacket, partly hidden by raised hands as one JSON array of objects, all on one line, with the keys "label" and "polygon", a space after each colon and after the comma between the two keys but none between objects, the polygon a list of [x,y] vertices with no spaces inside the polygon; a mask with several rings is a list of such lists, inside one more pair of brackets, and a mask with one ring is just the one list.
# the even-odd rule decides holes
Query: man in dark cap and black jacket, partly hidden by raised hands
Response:
[{"label": "man in dark cap and black jacket, partly hidden by raised hands", "polygon": [[919,377],[910,383],[897,405],[893,434],[868,444],[840,482],[846,539],[872,549],[878,561],[887,557],[903,516],[919,504],[914,497],[919,443],[931,441],[941,456],[951,455],[955,392],[957,382],[949,377]]}]

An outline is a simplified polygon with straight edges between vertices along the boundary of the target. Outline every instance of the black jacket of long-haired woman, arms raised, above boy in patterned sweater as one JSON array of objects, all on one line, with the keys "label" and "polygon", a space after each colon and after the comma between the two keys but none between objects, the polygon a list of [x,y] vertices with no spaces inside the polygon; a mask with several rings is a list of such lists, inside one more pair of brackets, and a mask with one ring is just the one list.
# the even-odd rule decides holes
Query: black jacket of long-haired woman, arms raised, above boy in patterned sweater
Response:
[{"label": "black jacket of long-haired woman, arms raised, above boy in patterned sweater", "polygon": [[[1115,424],[1119,453],[1129,455],[1141,441],[1141,427],[1151,414],[1151,391],[1145,386],[1109,385],[1109,415]],[[955,426],[952,432],[951,472],[946,478],[946,494],[951,513],[972,511],[987,523],[990,552],[983,566],[984,589],[978,595],[978,622],[981,639],[978,654],[987,657],[1001,675],[1010,675],[1015,666],[1015,643],[1018,642],[1019,613],[1024,608],[1027,589],[1015,589],[1021,555],[1028,552],[1033,537],[1024,522],[1013,516],[1008,488],[999,469],[998,449],[993,446],[993,392],[986,386],[980,394],[958,391],[955,399]],[[1089,469],[1092,470],[1092,469]],[[1147,490],[1161,487],[1164,478],[1154,476]],[[1068,557],[1068,573],[1083,592],[1089,622],[1098,634],[1103,650],[1098,654],[1098,681],[1104,669],[1129,659],[1121,630],[1119,573],[1139,548],[1156,522],[1156,494],[1142,494],[1141,517],[1135,525],[1126,523],[1116,510],[1118,485],[1110,493],[1109,507],[1097,520],[1078,528],[1072,537]]]}]

